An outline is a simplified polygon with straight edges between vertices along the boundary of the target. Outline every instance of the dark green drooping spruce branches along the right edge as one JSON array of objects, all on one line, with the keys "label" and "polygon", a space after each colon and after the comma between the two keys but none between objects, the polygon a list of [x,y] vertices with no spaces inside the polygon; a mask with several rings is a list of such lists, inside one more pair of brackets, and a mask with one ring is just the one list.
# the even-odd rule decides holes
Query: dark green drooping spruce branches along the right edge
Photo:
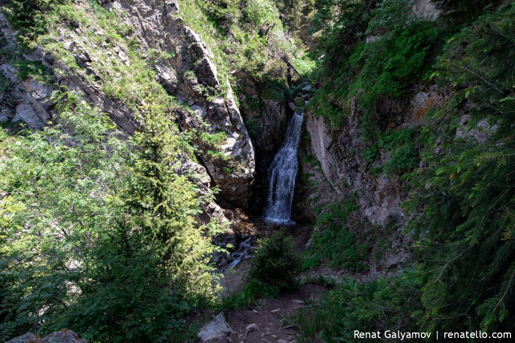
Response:
[{"label": "dark green drooping spruce branches along the right edge", "polygon": [[462,29],[434,74],[453,95],[424,128],[427,167],[405,203],[423,209],[420,321],[432,329],[513,330],[514,14],[502,6]]}]

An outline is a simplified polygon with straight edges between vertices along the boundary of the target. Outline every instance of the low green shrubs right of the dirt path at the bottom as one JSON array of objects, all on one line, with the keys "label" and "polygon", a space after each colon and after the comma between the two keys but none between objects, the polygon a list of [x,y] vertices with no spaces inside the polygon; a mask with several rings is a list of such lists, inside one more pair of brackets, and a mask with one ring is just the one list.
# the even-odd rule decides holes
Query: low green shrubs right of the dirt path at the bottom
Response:
[{"label": "low green shrubs right of the dirt path at the bottom", "polygon": [[413,273],[393,279],[358,283],[344,279],[325,294],[315,311],[304,310],[294,320],[300,342],[354,342],[354,330],[418,332],[411,311],[420,308]]}]

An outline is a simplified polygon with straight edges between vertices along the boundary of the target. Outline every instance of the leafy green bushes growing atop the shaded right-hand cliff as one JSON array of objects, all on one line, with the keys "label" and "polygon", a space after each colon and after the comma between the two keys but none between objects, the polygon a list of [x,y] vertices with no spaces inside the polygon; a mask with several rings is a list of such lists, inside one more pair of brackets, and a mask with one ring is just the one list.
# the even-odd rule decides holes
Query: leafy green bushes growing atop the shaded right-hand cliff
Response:
[{"label": "leafy green bushes growing atop the shaded right-hand cliff", "polygon": [[313,24],[322,35],[316,50],[321,87],[313,110],[339,126],[355,98],[365,112],[362,133],[370,140],[388,115],[375,105],[409,95],[414,83],[430,75],[444,31],[438,22],[416,18],[408,0],[317,3]]}]

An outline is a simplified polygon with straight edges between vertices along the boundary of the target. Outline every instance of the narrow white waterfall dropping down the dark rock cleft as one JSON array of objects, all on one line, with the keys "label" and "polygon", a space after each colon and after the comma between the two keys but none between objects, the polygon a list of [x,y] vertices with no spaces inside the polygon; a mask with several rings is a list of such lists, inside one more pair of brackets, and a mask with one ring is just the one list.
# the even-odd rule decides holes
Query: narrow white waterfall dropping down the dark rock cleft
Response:
[{"label": "narrow white waterfall dropping down the dark rock cleft", "polygon": [[265,205],[265,218],[274,222],[287,222],[291,216],[291,202],[295,188],[300,132],[304,113],[295,113],[286,130],[281,149],[270,165],[270,186]]}]

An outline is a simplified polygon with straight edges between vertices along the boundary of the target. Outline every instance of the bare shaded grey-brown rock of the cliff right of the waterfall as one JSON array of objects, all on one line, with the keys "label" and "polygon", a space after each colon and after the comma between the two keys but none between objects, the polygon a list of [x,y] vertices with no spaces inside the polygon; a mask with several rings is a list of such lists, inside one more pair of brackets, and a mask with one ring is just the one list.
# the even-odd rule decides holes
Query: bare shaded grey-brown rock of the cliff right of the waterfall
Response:
[{"label": "bare shaded grey-brown rock of the cliff right of the waterfall", "polygon": [[[422,124],[427,111],[442,105],[448,97],[445,90],[436,85],[420,90],[411,99],[403,102],[391,100],[382,104],[384,113],[396,113],[400,127]],[[361,212],[372,224],[385,225],[394,220],[399,225],[406,221],[400,208],[407,194],[399,176],[388,178],[384,175],[373,176],[367,163],[361,158],[366,145],[359,136],[361,110],[356,101],[352,102],[347,123],[335,130],[323,117],[306,113],[306,130],[311,139],[311,150],[320,162],[327,180],[338,194],[357,192]],[[380,162],[388,157],[382,156]]]}]

